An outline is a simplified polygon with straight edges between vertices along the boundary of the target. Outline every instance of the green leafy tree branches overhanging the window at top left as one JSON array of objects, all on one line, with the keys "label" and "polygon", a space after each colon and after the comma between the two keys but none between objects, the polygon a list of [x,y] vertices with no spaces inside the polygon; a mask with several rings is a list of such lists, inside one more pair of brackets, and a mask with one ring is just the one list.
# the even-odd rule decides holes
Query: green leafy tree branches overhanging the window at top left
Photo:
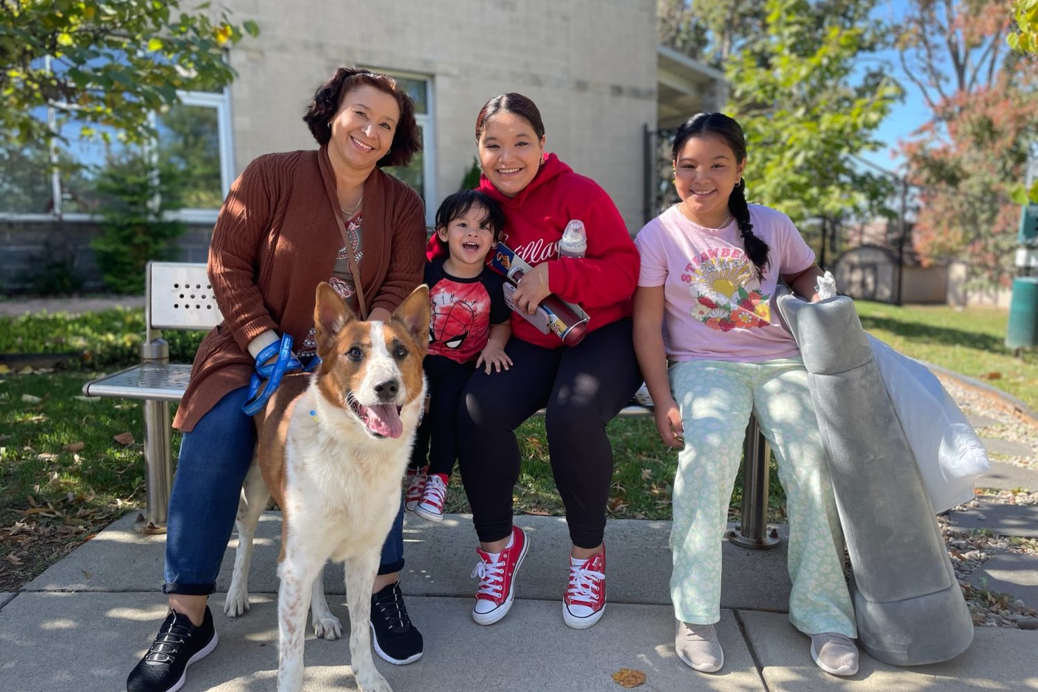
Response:
[{"label": "green leafy tree branches overhanging the window at top left", "polygon": [[177,89],[229,84],[235,71],[225,50],[258,28],[233,24],[208,2],[189,10],[181,5],[0,0],[0,148],[53,136],[33,115],[40,106],[56,110],[59,128],[75,117],[87,136],[91,127],[107,126],[145,141],[154,134],[148,114],[177,103]]}]

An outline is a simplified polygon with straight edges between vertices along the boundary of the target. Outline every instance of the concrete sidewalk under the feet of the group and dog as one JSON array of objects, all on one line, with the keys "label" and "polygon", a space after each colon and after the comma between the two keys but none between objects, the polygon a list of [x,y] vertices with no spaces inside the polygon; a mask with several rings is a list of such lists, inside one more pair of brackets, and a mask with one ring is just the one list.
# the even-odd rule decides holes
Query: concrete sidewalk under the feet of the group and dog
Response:
[{"label": "concrete sidewalk under the feet of the group and dog", "polygon": [[[0,690],[81,692],[122,690],[126,675],[146,651],[164,615],[159,592],[164,536],[132,530],[128,515],[73,551],[17,596],[0,594]],[[529,532],[530,552],[518,576],[518,599],[499,624],[484,628],[469,611],[475,582],[475,535],[466,516],[435,525],[412,517],[405,526],[408,566],[404,592],[426,638],[425,657],[379,669],[398,691],[622,690],[610,674],[646,672],[638,689],[810,692],[812,690],[1038,690],[1038,633],[977,628],[973,646],[953,661],[897,668],[862,656],[857,675],[837,679],[818,669],[809,639],[785,615],[790,583],[785,545],[756,552],[726,542],[721,672],[698,673],[674,652],[674,615],[667,593],[668,522],[610,521],[609,605],[602,621],[575,631],[562,621],[561,593],[569,547],[564,520],[517,517]],[[785,528],[785,527],[781,527]],[[252,609],[229,619],[222,612],[236,538],[213,599],[220,644],[191,667],[188,692],[273,690],[277,669],[275,563],[280,515],[261,522],[252,561]],[[348,621],[340,566],[326,570],[332,611]],[[509,653],[509,665],[494,665]],[[306,689],[356,689],[346,640],[306,644]],[[487,671],[481,671],[486,667]]]}]

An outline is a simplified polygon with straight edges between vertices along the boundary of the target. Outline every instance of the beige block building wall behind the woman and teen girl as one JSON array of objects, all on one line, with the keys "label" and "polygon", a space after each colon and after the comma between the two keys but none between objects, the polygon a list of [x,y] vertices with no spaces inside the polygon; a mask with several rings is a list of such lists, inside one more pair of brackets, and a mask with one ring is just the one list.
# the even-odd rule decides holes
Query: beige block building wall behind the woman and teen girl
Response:
[{"label": "beige block building wall behind the woman and teen girl", "polygon": [[[519,91],[541,109],[548,150],[594,177],[630,228],[640,227],[643,133],[657,126],[657,63],[664,59],[655,0],[222,4],[262,31],[230,55],[239,73],[229,90],[236,170],[267,151],[311,147],[300,117],[315,88],[335,67],[358,65],[410,78],[425,111],[430,218],[472,164],[480,107],[494,94]],[[665,60],[668,98],[684,99],[682,105],[696,93],[722,98],[709,71],[695,75],[691,61]]]}]

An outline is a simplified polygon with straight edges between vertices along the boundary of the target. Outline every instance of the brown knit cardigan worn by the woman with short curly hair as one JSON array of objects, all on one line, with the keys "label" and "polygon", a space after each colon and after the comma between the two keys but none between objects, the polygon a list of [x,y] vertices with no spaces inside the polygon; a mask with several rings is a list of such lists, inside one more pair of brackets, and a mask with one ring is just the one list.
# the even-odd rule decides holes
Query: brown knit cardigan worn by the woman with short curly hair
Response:
[{"label": "brown knit cardigan worn by the woman with short curly hair", "polygon": [[[224,395],[248,384],[252,339],[267,330],[292,334],[296,343],[305,338],[318,283],[331,277],[343,246],[338,205],[328,193],[334,189],[325,146],[260,157],[235,181],[209,248],[209,278],[224,320],[198,347],[173,427],[191,431]],[[362,232],[367,309],[392,311],[421,283],[421,198],[376,168],[364,183]]]}]

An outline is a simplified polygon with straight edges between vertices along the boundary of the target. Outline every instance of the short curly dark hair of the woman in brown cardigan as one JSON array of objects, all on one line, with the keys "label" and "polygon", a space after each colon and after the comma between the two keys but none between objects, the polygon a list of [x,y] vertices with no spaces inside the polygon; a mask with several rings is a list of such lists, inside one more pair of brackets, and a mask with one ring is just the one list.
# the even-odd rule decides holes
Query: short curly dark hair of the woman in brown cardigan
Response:
[{"label": "short curly dark hair of the woman in brown cardigan", "polygon": [[411,157],[421,149],[421,132],[414,121],[414,103],[407,91],[397,86],[397,80],[389,75],[368,72],[367,70],[356,70],[353,67],[339,67],[332,75],[332,78],[318,87],[313,94],[313,101],[306,109],[303,121],[310,128],[310,134],[318,144],[324,146],[331,139],[331,119],[338,112],[338,107],[343,104],[343,99],[347,92],[358,86],[374,86],[380,91],[388,93],[397,100],[400,106],[400,120],[397,122],[397,131],[392,136],[392,144],[389,151],[379,159],[376,166],[406,166],[411,162]]}]

